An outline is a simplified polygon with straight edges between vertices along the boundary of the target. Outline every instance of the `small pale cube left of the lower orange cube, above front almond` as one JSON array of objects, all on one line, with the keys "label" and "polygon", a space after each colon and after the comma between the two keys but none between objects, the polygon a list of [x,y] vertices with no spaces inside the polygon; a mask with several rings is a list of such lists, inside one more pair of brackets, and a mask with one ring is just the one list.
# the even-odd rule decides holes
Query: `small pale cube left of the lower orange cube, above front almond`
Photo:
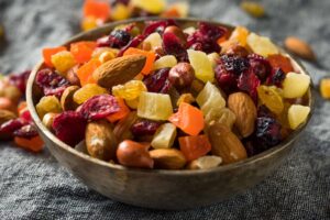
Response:
[{"label": "small pale cube left of the lower orange cube, above front almond", "polygon": [[151,142],[154,148],[169,148],[176,138],[176,127],[172,123],[162,124]]}]

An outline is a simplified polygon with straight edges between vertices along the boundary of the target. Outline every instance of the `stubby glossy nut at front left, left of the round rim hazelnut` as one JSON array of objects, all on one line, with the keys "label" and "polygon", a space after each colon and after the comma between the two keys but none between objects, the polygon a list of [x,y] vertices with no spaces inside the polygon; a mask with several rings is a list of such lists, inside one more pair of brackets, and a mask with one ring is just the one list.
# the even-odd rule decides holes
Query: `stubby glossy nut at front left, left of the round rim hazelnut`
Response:
[{"label": "stubby glossy nut at front left, left of the round rim hazelnut", "polygon": [[103,161],[116,158],[118,142],[111,123],[106,120],[89,122],[85,135],[87,151],[90,156]]}]

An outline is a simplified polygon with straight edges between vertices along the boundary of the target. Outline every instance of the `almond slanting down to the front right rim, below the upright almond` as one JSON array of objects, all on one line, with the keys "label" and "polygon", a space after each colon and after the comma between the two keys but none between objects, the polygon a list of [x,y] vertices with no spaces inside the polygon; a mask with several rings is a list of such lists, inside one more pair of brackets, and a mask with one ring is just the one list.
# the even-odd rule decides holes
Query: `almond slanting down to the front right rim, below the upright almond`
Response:
[{"label": "almond slanting down to the front right rim, below the upright almond", "polygon": [[230,164],[248,157],[245,147],[238,136],[223,124],[213,122],[208,130],[212,154],[220,156],[223,164]]}]

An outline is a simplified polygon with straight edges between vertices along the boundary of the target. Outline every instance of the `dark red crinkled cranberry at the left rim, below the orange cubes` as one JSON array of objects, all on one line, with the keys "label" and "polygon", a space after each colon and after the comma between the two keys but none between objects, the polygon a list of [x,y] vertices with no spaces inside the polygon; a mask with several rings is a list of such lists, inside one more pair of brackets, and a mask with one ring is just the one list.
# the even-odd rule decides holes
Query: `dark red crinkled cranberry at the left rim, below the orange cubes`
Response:
[{"label": "dark red crinkled cranberry at the left rim, below the orange cubes", "polygon": [[43,88],[45,96],[61,97],[69,86],[69,81],[50,68],[42,69],[36,74],[36,85]]}]

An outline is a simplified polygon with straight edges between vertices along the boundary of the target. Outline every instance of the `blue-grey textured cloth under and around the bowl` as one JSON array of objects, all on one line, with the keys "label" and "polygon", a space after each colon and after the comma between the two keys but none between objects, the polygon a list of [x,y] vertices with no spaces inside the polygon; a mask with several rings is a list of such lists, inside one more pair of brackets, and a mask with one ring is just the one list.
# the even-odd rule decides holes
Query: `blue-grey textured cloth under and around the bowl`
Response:
[{"label": "blue-grey textured cloth under and around the bowl", "polygon": [[[264,0],[268,16],[242,13],[238,0],[196,0],[195,16],[249,29],[282,42],[298,35],[319,57],[304,63],[315,82],[330,74],[330,1]],[[41,58],[41,48],[77,33],[79,0],[0,0],[7,43],[0,72],[21,72]],[[127,206],[89,190],[45,150],[26,153],[0,145],[0,219],[330,219],[330,101],[317,97],[315,116],[288,160],[268,178],[218,205],[189,211]]]}]

